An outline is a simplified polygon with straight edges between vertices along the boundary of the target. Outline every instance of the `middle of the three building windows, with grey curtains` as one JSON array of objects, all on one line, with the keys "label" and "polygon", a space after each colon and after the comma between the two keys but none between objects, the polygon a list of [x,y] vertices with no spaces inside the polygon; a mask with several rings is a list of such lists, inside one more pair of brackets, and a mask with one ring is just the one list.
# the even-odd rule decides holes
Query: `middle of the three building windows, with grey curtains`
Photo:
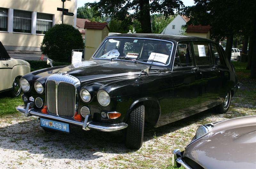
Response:
[{"label": "middle of the three building windows, with grey curtains", "polygon": [[13,10],[13,32],[31,33],[31,12]]}]

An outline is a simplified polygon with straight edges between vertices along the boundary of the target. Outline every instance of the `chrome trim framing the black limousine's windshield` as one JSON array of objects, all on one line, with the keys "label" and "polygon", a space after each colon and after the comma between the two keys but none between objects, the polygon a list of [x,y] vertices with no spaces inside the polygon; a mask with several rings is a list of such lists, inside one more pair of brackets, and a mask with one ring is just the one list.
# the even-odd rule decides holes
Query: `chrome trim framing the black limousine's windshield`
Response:
[{"label": "chrome trim framing the black limousine's windshield", "polygon": [[[147,39],[147,40],[157,40],[157,41],[163,41],[163,42],[169,42],[172,44],[172,49],[171,49],[171,53],[170,53],[170,58],[169,58],[169,62],[168,64],[166,65],[163,65],[163,64],[157,64],[157,63],[153,63],[152,65],[156,65],[156,66],[169,66],[170,65],[170,62],[171,62],[171,59],[172,59],[172,51],[173,51],[173,46],[174,46],[174,43],[172,41],[169,41],[169,40],[163,40],[163,39],[154,39],[154,38],[135,38],[135,37],[119,37],[119,36],[112,36],[112,37],[106,37],[105,39],[102,40],[102,42],[100,43],[100,46],[104,43],[105,40],[107,39],[114,39],[114,38],[120,38],[120,39]],[[110,59],[106,59],[106,58],[94,58],[95,54],[98,52],[98,50],[100,49],[100,46],[96,49],[96,51],[93,53],[92,55],[92,59],[101,59],[101,60],[110,60]],[[121,59],[115,59],[115,60],[121,60]],[[124,60],[122,60],[124,61]],[[125,60],[125,61],[130,61],[130,62],[133,62],[133,60]],[[138,61],[139,63],[145,63],[145,64],[149,64],[151,65],[151,63],[147,63],[147,62],[142,62],[142,61]]]}]

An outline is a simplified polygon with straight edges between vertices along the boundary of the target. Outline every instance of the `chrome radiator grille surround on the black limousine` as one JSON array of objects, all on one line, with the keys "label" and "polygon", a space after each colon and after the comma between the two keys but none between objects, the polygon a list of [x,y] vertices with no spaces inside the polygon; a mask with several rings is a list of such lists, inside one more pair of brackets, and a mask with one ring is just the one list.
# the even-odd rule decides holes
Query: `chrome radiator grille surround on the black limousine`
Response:
[{"label": "chrome radiator grille surround on the black limousine", "polygon": [[[67,76],[65,78],[63,78],[64,76]],[[62,78],[61,78],[62,77]],[[60,83],[69,83],[74,85],[75,87],[75,110],[74,110],[74,116],[75,116],[75,112],[77,112],[78,109],[78,89],[80,87],[80,81],[78,78],[76,78],[75,76],[72,76],[70,74],[61,74],[61,73],[57,73],[57,74],[52,74],[50,75],[45,82],[45,90],[47,90],[47,82],[48,81],[54,81],[55,82],[55,103],[56,103],[56,115],[59,116],[58,114],[58,86]],[[45,102],[47,104],[47,91],[45,91]],[[51,113],[48,111],[47,108],[47,112]],[[73,117],[74,117],[73,116]]]}]

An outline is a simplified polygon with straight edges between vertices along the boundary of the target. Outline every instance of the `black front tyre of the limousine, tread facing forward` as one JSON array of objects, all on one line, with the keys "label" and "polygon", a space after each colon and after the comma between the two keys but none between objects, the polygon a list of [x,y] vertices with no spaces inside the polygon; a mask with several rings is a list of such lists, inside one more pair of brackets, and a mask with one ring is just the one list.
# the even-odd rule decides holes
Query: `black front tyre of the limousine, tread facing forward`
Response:
[{"label": "black front tyre of the limousine, tread facing forward", "polygon": [[126,133],[126,146],[131,149],[140,149],[143,142],[145,123],[145,106],[136,105],[132,110]]}]

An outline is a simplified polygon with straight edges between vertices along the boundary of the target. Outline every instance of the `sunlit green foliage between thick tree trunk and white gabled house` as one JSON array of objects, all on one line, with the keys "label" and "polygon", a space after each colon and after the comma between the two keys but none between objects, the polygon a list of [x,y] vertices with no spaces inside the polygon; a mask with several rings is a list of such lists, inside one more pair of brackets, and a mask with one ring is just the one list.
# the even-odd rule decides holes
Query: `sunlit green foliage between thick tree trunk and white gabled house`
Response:
[{"label": "sunlit green foliage between thick tree trunk and white gabled house", "polygon": [[152,15],[151,16],[151,28],[152,33],[161,33],[163,32],[164,28],[172,22],[174,16],[164,17],[163,15]]}]

